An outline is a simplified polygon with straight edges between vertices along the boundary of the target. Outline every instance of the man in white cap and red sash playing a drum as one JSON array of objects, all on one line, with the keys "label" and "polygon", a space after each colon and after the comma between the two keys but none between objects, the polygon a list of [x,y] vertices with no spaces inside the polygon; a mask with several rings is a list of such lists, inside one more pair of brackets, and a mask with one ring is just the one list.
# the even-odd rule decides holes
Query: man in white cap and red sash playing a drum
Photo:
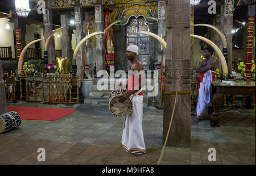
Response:
[{"label": "man in white cap and red sash playing a drum", "polygon": [[[143,94],[141,88],[143,87],[142,77],[140,71],[144,73],[144,68],[141,62],[137,60],[139,48],[137,45],[129,45],[126,49],[127,60],[131,62],[130,70],[133,71],[132,76],[127,80],[127,92],[119,96],[119,102],[127,98],[133,101],[133,112],[126,116],[123,124],[122,146],[126,152],[133,156],[138,156],[146,152],[144,144],[144,137],[142,131],[143,121]],[[141,73],[142,73],[141,72]],[[138,80],[139,79],[139,80]],[[138,83],[138,85],[135,85]]]}]

